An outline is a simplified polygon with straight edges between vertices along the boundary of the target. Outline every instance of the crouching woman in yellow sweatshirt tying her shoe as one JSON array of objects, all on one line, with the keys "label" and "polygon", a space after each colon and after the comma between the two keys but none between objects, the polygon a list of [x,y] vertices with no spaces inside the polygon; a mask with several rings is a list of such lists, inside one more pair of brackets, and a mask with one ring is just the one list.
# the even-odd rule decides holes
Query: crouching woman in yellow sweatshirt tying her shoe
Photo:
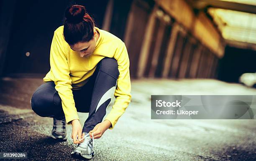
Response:
[{"label": "crouching woman in yellow sweatshirt tying her shoe", "polygon": [[[39,116],[53,117],[53,138],[67,140],[66,123],[72,124],[71,138],[77,143],[72,154],[90,159],[93,139],[113,129],[131,101],[129,58],[122,40],[95,27],[84,6],[67,8],[65,16],[51,43],[51,70],[31,107]],[[115,103],[105,117],[113,95]],[[89,112],[83,128],[77,111]]]}]

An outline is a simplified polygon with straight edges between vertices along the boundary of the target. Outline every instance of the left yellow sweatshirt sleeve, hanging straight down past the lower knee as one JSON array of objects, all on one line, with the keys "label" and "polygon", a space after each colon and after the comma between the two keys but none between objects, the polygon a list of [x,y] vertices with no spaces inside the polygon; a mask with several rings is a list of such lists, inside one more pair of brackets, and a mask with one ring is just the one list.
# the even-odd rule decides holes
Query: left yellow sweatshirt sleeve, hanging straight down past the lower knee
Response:
[{"label": "left yellow sweatshirt sleeve, hanging straight down past the lower knee", "polygon": [[67,55],[64,49],[67,45],[63,42],[64,38],[54,32],[54,37],[51,43],[50,65],[51,75],[54,77],[55,89],[58,91],[61,98],[62,108],[66,117],[66,122],[79,119],[77,109],[75,108],[72,80],[69,76],[70,70],[67,62]]}]

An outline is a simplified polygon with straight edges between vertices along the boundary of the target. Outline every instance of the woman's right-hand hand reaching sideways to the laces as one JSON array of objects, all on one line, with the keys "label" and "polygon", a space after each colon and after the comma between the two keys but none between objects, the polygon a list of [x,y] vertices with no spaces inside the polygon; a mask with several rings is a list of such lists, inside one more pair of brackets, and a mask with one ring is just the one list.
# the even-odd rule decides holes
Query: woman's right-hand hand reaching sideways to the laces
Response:
[{"label": "woman's right-hand hand reaching sideways to the laces", "polygon": [[111,126],[110,121],[105,120],[102,123],[98,123],[93,130],[89,132],[90,137],[92,138],[92,133],[94,138],[100,138],[103,133]]}]

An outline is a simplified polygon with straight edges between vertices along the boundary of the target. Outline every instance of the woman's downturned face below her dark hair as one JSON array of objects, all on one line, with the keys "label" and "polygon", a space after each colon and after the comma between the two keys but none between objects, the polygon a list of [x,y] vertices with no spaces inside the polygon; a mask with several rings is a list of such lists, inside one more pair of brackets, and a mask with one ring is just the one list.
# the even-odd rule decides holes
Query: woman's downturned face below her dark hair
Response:
[{"label": "woman's downturned face below her dark hair", "polygon": [[80,57],[86,57],[93,53],[96,43],[97,43],[97,31],[95,30],[92,40],[88,42],[79,42],[74,45],[70,45],[70,48],[74,51],[79,52]]}]

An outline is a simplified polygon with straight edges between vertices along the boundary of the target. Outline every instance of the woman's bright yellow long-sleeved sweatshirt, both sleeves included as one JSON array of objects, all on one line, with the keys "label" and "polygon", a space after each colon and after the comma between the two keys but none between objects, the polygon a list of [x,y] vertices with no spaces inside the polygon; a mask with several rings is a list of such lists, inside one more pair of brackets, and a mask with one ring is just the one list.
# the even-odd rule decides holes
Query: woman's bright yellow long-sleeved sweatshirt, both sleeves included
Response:
[{"label": "woman's bright yellow long-sleeved sweatshirt, both sleeves included", "polygon": [[51,69],[43,80],[54,81],[55,89],[61,98],[66,122],[71,124],[70,121],[79,119],[72,89],[84,86],[102,58],[115,58],[120,73],[114,93],[116,100],[110,113],[105,117],[105,120],[109,120],[112,124],[109,129],[113,129],[131,102],[130,62],[125,44],[115,35],[96,28],[100,37],[95,50],[91,55],[81,58],[79,53],[72,50],[64,40],[63,28],[64,26],[60,26],[54,31],[50,51]]}]

